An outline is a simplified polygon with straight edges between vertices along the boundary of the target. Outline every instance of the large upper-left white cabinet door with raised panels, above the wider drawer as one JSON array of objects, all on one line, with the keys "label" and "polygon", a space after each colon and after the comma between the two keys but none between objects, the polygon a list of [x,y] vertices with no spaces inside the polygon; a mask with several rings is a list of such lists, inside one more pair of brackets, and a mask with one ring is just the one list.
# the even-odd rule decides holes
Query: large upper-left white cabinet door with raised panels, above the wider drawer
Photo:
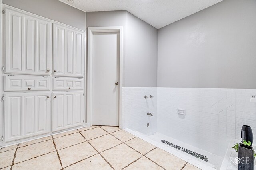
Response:
[{"label": "large upper-left white cabinet door with raised panels, above the wider drawer", "polygon": [[50,21],[8,8],[5,11],[5,73],[50,75]]}]

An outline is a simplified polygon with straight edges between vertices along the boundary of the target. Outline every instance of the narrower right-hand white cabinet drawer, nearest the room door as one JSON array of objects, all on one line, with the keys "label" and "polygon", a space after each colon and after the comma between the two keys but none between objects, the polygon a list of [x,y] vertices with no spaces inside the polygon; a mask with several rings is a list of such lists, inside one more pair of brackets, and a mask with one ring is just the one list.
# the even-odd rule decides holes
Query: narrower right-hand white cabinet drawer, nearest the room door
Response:
[{"label": "narrower right-hand white cabinet drawer, nearest the room door", "polygon": [[83,78],[52,78],[52,90],[83,90]]}]

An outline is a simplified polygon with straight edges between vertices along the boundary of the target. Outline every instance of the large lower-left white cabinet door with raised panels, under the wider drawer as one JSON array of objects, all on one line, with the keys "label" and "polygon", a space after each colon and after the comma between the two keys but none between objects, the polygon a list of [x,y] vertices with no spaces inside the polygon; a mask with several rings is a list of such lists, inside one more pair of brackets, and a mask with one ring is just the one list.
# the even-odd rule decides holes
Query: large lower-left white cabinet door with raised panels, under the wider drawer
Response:
[{"label": "large lower-left white cabinet door with raised panels, under the wider drawer", "polygon": [[50,133],[49,92],[8,93],[4,100],[4,142]]}]

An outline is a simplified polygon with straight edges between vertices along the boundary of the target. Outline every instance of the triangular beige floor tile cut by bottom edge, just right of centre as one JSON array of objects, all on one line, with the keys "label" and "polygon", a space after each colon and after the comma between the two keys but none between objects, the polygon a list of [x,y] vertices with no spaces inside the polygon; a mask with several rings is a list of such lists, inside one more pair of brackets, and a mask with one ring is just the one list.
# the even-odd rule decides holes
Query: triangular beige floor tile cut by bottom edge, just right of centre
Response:
[{"label": "triangular beige floor tile cut by bottom edge, just right of centre", "polygon": [[143,156],[136,162],[124,168],[124,170],[163,170],[163,168]]}]

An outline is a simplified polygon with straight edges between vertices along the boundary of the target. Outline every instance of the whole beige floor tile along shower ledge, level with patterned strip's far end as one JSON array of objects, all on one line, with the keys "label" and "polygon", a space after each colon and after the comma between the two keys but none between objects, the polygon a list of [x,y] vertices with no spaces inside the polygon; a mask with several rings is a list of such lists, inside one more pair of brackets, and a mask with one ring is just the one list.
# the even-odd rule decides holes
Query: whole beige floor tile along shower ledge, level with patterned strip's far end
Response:
[{"label": "whole beige floor tile along shower ledge, level with patterned strip's far end", "polygon": [[155,148],[154,145],[152,145],[138,137],[131,139],[130,141],[127,141],[126,144],[129,145],[130,147],[132,147],[133,149],[137,150],[138,152],[140,152],[143,155]]}]

